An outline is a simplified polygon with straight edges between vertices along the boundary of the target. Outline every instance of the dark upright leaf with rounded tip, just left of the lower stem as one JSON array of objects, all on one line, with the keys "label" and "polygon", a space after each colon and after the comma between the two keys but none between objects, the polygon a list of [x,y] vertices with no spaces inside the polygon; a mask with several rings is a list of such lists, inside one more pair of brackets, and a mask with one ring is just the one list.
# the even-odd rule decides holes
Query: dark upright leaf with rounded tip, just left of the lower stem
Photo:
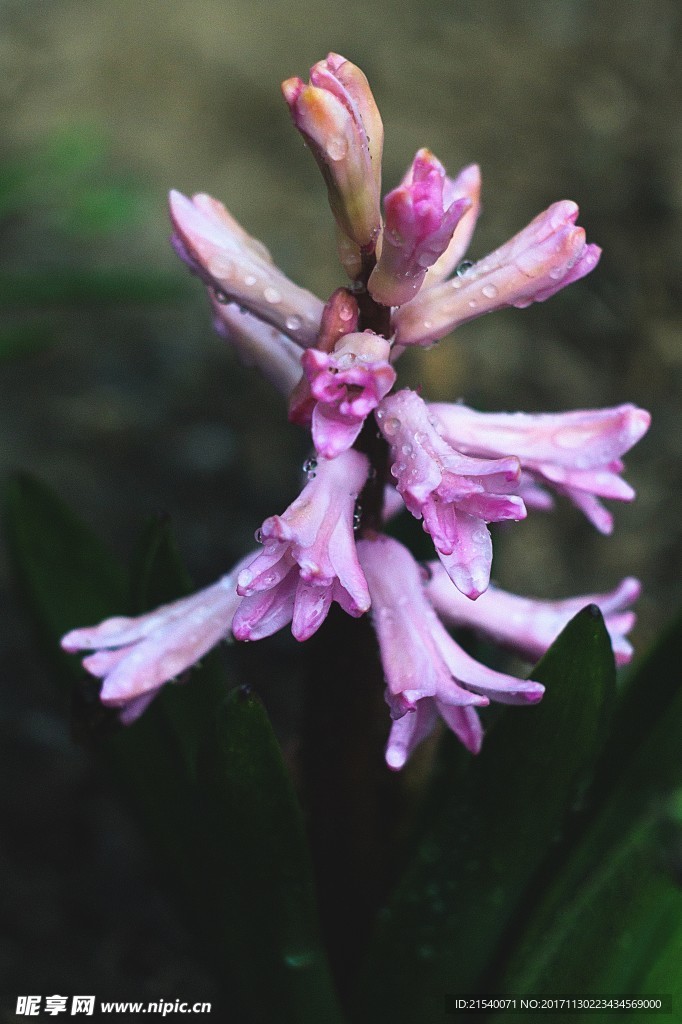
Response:
[{"label": "dark upright leaf with rounded tip, just left of the lower stem", "polygon": [[[249,1020],[341,1021],[316,913],[303,822],[260,701],[233,691],[201,762],[202,807],[214,837],[220,954],[239,965]],[[266,979],[266,981],[265,981]]]}]

